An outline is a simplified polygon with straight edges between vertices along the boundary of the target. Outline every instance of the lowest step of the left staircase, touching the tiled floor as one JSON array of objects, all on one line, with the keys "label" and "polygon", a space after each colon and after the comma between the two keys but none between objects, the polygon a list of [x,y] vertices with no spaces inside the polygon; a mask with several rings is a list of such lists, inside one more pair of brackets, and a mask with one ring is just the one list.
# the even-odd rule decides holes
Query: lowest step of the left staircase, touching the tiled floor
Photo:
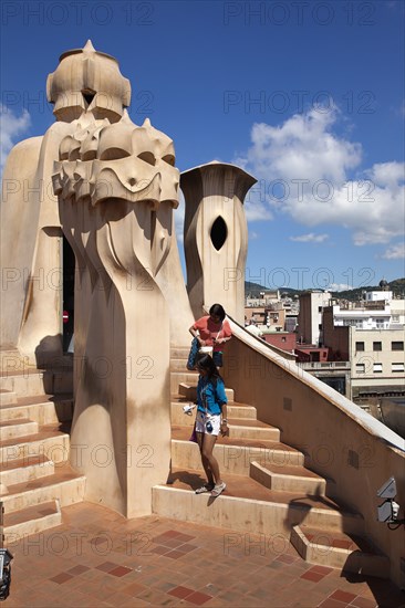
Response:
[{"label": "lowest step of the left staircase, touching the tiled floor", "polygon": [[25,536],[44,532],[62,524],[58,500],[39,503],[14,513],[4,513],[4,544],[12,548]]}]

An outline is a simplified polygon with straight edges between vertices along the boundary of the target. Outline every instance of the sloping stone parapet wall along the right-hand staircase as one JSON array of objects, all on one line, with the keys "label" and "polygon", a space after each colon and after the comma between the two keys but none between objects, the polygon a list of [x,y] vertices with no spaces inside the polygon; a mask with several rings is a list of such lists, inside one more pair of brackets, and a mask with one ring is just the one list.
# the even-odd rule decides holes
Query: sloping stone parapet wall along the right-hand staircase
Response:
[{"label": "sloping stone parapet wall along the right-hand staircase", "polygon": [[[364,518],[365,533],[391,559],[391,578],[403,585],[403,530],[377,522],[377,490],[391,476],[405,506],[405,441],[359,406],[276,353],[228,316],[224,376],[238,401],[281,429],[282,442],[302,450],[305,465],[328,480],[328,496]],[[274,463],[276,464],[276,463]],[[280,464],[280,462],[278,462]],[[285,453],[288,464],[288,452]]]}]

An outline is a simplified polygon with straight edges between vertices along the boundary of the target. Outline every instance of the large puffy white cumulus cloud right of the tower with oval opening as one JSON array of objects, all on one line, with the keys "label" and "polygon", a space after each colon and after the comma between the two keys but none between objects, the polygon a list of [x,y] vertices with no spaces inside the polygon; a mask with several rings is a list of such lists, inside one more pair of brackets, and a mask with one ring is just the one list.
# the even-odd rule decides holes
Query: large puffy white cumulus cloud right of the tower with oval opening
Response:
[{"label": "large puffy white cumulus cloud right of the tower with oval opening", "polygon": [[258,178],[249,219],[270,219],[269,210],[270,217],[278,210],[311,228],[343,226],[356,245],[403,234],[404,165],[381,163],[354,175],[362,146],[333,132],[339,117],[338,108],[312,108],[278,127],[253,125],[252,145],[238,158]]}]

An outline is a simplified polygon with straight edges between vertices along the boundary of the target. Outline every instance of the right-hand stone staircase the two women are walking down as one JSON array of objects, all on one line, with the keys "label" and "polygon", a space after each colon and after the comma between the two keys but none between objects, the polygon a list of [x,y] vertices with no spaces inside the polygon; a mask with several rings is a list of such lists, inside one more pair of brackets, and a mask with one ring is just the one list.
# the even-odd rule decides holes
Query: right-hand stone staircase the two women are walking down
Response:
[{"label": "right-hand stone staircase the two women are walking down", "polygon": [[236,401],[231,389],[229,437],[215,448],[227,490],[219,499],[195,494],[205,476],[189,441],[195,410],[183,412],[197,384],[197,374],[181,371],[187,355],[186,348],[172,352],[172,472],[166,485],[153,489],[154,513],[232,531],[225,542],[258,534],[280,552],[291,543],[307,562],[388,578],[390,560],[365,538],[363,517],[328,497],[331,480],[310,471],[304,453],[284,444],[280,430],[257,420],[256,408]]}]

